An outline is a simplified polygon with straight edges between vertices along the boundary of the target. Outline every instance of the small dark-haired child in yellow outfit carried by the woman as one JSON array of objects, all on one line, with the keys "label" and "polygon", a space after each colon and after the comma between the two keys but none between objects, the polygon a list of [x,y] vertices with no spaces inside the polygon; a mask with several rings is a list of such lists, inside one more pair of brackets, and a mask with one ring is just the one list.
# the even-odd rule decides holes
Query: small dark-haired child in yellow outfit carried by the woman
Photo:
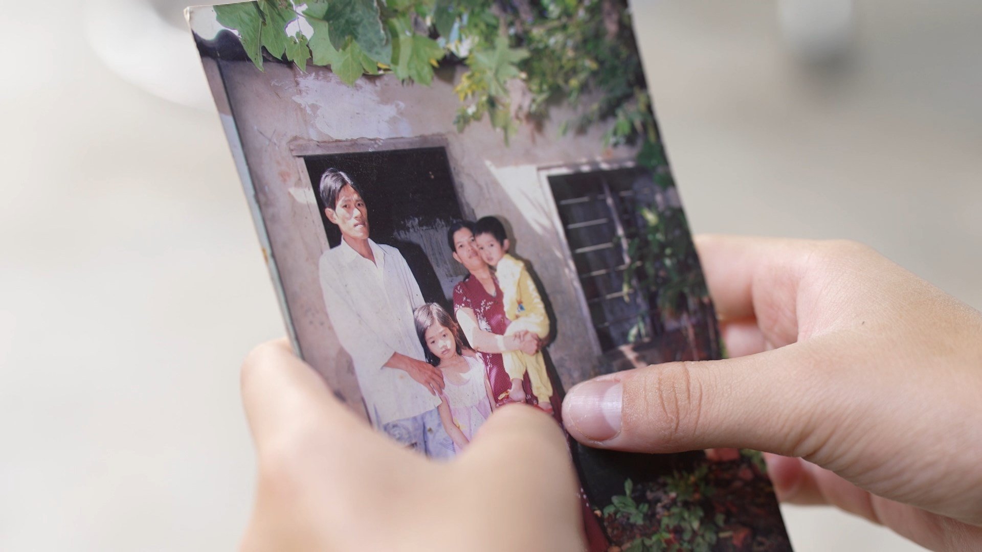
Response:
[{"label": "small dark-haired child in yellow outfit carried by the woman", "polygon": [[[505,226],[495,217],[483,217],[475,225],[474,241],[484,262],[495,268],[498,286],[501,288],[502,300],[505,304],[505,316],[512,322],[505,335],[528,331],[539,339],[544,339],[549,335],[549,315],[546,313],[546,305],[525,263],[508,253],[511,244],[506,236]],[[505,371],[512,378],[509,397],[518,402],[525,400],[521,380],[527,372],[528,381],[532,385],[532,394],[538,400],[539,407],[552,412],[550,401],[553,387],[542,354],[526,355],[521,351],[510,351],[503,353],[502,359]]]}]

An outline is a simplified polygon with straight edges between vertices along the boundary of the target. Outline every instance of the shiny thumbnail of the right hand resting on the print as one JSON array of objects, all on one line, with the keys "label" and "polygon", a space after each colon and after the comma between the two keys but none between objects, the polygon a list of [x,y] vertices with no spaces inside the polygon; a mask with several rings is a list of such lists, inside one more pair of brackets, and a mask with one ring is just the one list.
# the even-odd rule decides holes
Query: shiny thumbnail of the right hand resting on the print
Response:
[{"label": "shiny thumbnail of the right hand resting on the print", "polygon": [[563,401],[568,425],[591,441],[607,441],[621,432],[624,386],[619,381],[587,381],[570,390]]}]

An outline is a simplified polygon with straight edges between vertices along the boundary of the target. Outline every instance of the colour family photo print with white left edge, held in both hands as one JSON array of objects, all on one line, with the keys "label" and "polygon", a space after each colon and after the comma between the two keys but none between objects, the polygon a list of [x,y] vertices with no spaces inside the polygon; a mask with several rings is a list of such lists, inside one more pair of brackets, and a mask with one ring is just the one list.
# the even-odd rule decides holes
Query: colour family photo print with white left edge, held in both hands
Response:
[{"label": "colour family photo print with white left edge, held in both hands", "polygon": [[[188,17],[294,346],[379,431],[450,460],[509,403],[723,355],[626,3]],[[570,446],[591,550],[791,549],[758,453]]]}]

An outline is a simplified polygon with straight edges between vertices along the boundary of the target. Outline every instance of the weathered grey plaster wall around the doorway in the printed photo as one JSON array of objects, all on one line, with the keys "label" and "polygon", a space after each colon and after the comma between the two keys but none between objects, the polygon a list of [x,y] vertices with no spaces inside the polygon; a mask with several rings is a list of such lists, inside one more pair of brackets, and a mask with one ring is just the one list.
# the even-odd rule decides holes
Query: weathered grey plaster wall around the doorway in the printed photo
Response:
[{"label": "weathered grey plaster wall around the doorway in the printed photo", "polygon": [[348,86],[316,67],[302,74],[279,64],[266,64],[264,73],[248,62],[219,65],[302,354],[353,406],[360,408],[354,370],[331,331],[317,275],[327,239],[303,163],[290,148],[299,139],[445,137],[464,216],[499,216],[512,232],[514,251],[541,280],[558,319],[548,351],[564,386],[597,373],[594,330],[539,171],[627,159],[632,149],[602,148],[606,129],[600,126],[559,138],[559,123],[573,115],[570,109],[554,110],[542,128],[521,126],[510,146],[487,121],[458,133],[454,70],[442,70],[428,87],[392,77],[363,78]]}]

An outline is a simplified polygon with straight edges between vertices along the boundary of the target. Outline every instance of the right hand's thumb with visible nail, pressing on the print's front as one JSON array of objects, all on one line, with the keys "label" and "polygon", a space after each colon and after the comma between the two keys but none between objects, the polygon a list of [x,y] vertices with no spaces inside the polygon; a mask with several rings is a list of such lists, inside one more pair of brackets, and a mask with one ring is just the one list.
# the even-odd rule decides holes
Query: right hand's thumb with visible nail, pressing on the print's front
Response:
[{"label": "right hand's thumb with visible nail, pressing on the print's front", "polygon": [[[798,369],[811,344],[738,359],[669,362],[573,387],[563,421],[584,445],[645,453],[750,448],[808,456],[823,434],[827,370]],[[840,382],[840,385],[844,382]],[[812,439],[812,438],[815,439]],[[817,444],[813,446],[818,446]]]}]

